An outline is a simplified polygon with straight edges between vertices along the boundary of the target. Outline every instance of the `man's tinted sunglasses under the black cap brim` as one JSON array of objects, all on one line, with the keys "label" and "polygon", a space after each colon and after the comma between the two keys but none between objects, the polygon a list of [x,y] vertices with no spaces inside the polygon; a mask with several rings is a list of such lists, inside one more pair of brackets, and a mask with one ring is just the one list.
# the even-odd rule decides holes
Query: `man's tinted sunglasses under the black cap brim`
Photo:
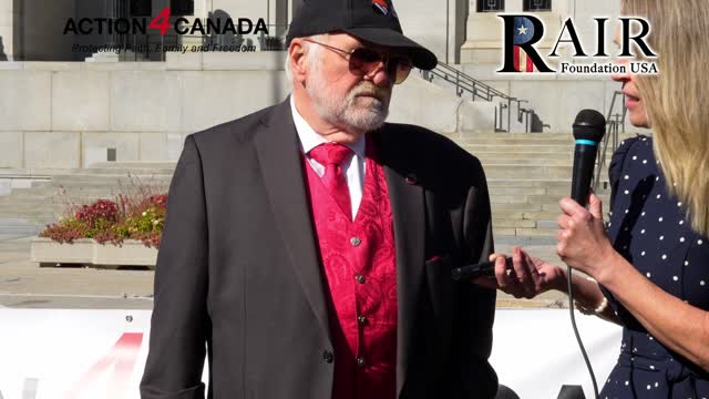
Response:
[{"label": "man's tinted sunglasses under the black cap brim", "polygon": [[384,64],[389,75],[394,78],[394,84],[400,84],[407,80],[409,72],[411,72],[411,69],[413,68],[411,59],[404,55],[383,53],[364,47],[347,51],[315,40],[304,40],[310,43],[320,44],[326,49],[345,55],[349,61],[350,72],[357,76],[368,75],[379,68],[379,63],[381,62]]}]

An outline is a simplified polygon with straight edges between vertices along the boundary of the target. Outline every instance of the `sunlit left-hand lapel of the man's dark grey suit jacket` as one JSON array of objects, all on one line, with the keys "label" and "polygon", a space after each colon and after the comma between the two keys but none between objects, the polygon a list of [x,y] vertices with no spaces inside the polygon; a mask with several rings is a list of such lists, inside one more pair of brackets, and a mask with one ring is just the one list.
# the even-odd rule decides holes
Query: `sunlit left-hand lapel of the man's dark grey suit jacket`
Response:
[{"label": "sunlit left-hand lapel of the man's dark grey suit jacket", "polygon": [[261,122],[266,127],[256,134],[255,143],[276,224],[290,264],[330,339],[320,262],[289,99],[274,108]]}]

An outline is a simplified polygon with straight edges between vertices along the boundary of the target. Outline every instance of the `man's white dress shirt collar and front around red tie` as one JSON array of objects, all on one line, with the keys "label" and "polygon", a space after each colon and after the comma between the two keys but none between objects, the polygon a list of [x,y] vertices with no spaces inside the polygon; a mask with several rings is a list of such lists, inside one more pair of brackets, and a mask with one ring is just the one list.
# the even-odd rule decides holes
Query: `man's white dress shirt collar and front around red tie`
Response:
[{"label": "man's white dress shirt collar and front around red tie", "polygon": [[[325,174],[325,166],[316,160],[311,158],[308,152],[316,146],[327,143],[321,135],[319,135],[308,122],[300,115],[296,109],[296,102],[290,96],[290,110],[292,112],[292,121],[296,124],[296,131],[298,132],[298,139],[300,140],[300,150],[308,160],[308,163],[312,166],[315,173],[322,177]],[[362,202],[362,192],[364,191],[364,160],[366,160],[366,140],[361,136],[357,142],[347,145],[354,155],[342,164],[342,171],[345,171],[345,178],[347,180],[347,186],[350,191],[350,203],[352,204],[352,221],[357,216],[357,209]]]}]

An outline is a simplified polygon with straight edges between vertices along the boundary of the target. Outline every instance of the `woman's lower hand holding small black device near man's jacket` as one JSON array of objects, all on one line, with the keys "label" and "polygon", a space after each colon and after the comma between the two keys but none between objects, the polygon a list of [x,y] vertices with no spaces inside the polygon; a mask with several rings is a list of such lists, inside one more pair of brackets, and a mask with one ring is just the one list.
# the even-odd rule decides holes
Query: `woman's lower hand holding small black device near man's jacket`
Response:
[{"label": "woman's lower hand holding small black device near man's jacket", "polygon": [[527,299],[549,289],[565,289],[566,277],[561,267],[532,257],[520,247],[512,248],[511,268],[505,266],[504,254],[492,254],[490,260],[495,260],[495,278],[479,277],[473,283],[491,289],[501,289],[515,298]]}]

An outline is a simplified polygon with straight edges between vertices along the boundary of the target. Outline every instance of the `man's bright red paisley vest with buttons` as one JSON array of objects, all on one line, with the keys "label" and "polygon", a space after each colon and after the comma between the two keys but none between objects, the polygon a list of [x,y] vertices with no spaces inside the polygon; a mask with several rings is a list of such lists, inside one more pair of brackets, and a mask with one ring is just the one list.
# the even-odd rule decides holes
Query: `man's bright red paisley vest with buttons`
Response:
[{"label": "man's bright red paisley vest with buttons", "polygon": [[364,190],[352,222],[304,157],[335,345],[333,399],[395,397],[393,217],[384,170],[373,150],[368,141]]}]

